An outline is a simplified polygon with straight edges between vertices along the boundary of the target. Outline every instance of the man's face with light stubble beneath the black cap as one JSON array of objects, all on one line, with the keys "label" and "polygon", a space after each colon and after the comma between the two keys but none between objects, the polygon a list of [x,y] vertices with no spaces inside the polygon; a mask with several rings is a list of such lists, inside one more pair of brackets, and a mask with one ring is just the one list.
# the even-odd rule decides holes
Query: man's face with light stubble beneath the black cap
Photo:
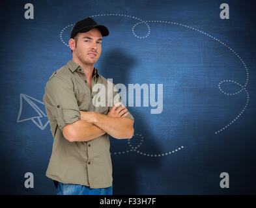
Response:
[{"label": "man's face with light stubble beneath the black cap", "polygon": [[83,64],[94,64],[102,52],[102,34],[99,29],[93,28],[88,32],[79,32],[76,47],[73,49],[73,58],[76,57]]}]

